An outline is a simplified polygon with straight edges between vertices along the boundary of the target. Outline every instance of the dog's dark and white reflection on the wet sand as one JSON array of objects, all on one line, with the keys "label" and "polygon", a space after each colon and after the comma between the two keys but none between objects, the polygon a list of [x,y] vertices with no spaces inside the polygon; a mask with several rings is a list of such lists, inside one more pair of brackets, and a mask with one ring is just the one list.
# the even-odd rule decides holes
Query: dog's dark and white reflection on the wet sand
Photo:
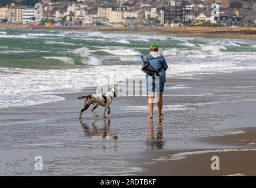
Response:
[{"label": "dog's dark and white reflection on the wet sand", "polygon": [[89,128],[87,123],[83,123],[80,120],[81,126],[84,128],[84,135],[92,137],[94,139],[106,139],[106,140],[117,140],[117,136],[111,132],[110,119],[104,119],[104,126],[102,128],[98,128],[95,124],[98,122],[98,118],[92,122],[92,130]]}]

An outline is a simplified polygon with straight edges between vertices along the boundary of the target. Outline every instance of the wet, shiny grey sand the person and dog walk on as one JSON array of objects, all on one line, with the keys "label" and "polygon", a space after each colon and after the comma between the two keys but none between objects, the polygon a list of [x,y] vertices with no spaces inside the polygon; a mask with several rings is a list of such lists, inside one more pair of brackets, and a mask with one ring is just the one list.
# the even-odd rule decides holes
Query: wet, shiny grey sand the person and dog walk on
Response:
[{"label": "wet, shiny grey sand the person and dog walk on", "polygon": [[[168,79],[166,114],[158,119],[155,109],[152,122],[146,96],[115,98],[107,119],[98,108],[99,117],[87,110],[80,122],[84,102],[77,95],[94,88],[59,102],[0,109],[0,175],[253,175],[255,79],[255,71]],[[213,152],[169,160],[204,150]],[[220,157],[220,171],[210,169],[212,155]],[[43,170],[34,169],[35,156],[43,157]]]}]

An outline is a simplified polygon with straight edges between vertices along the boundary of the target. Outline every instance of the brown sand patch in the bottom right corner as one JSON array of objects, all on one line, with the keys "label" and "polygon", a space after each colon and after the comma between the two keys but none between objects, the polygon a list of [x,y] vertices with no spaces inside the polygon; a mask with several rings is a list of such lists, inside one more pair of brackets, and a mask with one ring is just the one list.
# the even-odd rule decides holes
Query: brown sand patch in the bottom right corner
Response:
[{"label": "brown sand patch in the bottom right corner", "polygon": [[[146,164],[140,176],[255,176],[256,128],[245,133],[199,139],[215,143],[215,149],[178,150]],[[227,149],[219,149],[228,146]],[[212,170],[213,156],[218,156],[220,169]],[[157,169],[157,170],[156,170]]]}]

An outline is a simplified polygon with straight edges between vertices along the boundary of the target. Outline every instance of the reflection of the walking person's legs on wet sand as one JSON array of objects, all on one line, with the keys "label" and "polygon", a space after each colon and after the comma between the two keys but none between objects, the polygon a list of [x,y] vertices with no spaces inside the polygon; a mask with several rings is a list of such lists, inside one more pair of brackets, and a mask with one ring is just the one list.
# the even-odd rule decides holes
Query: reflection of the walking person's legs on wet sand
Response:
[{"label": "reflection of the walking person's legs on wet sand", "polygon": [[162,149],[164,145],[164,140],[162,139],[162,117],[158,119],[158,126],[157,126],[157,137],[154,136],[154,123],[152,118],[149,119],[148,124],[148,139],[147,139],[147,146],[148,150],[153,150],[155,147],[157,149]]}]

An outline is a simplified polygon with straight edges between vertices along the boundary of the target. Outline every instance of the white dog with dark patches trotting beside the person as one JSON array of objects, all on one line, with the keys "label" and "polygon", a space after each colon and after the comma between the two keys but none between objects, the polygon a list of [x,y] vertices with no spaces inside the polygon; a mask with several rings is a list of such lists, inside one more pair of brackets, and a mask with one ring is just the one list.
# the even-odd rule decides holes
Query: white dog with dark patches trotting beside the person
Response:
[{"label": "white dog with dark patches trotting beside the person", "polygon": [[108,115],[110,114],[110,104],[112,103],[112,100],[117,97],[118,95],[118,89],[117,88],[111,88],[109,92],[105,94],[93,94],[93,95],[87,95],[87,96],[78,96],[78,99],[84,99],[85,98],[85,104],[84,108],[81,110],[79,119],[82,119],[82,113],[89,108],[90,105],[93,105],[94,108],[92,108],[92,113],[94,113],[95,116],[99,116],[97,113],[95,113],[95,109],[100,106],[105,106],[104,110],[104,117],[106,117],[106,111],[108,109]]}]

